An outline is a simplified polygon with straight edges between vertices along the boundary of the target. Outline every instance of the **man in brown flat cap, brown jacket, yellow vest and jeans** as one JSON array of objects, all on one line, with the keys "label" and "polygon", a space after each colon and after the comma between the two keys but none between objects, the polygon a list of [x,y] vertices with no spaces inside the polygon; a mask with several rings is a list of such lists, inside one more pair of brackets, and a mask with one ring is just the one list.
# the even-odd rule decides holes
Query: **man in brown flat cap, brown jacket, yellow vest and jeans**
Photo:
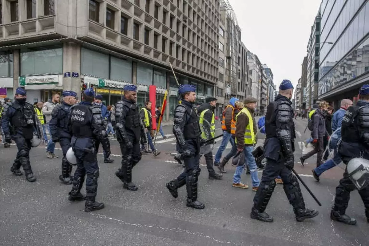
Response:
[{"label": "man in brown flat cap, brown jacket, yellow vest and jeans", "polygon": [[260,184],[258,166],[256,165],[255,158],[252,155],[254,144],[256,144],[256,133],[258,132],[254,118],[256,102],[257,100],[254,97],[246,97],[244,100],[245,107],[236,116],[235,142],[237,144],[238,152],[243,152],[245,159],[238,162],[232,184],[233,187],[242,189],[248,188],[248,185],[241,183],[241,174],[245,168],[245,163],[247,163],[250,169],[253,191],[258,191]]}]

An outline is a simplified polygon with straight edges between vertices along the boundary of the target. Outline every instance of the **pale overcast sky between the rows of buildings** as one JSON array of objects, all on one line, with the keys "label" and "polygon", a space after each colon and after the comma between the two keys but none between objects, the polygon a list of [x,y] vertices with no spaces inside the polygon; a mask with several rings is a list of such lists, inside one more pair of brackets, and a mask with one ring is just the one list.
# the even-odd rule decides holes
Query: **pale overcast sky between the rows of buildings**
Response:
[{"label": "pale overcast sky between the rows of buildings", "polygon": [[246,48],[272,69],[277,88],[296,85],[321,0],[228,0]]}]

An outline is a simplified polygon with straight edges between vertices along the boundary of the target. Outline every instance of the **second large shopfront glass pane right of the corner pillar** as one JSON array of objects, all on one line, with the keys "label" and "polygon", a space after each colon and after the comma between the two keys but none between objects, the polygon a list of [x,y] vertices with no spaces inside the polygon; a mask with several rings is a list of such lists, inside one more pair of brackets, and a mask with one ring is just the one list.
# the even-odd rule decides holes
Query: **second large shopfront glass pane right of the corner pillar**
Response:
[{"label": "second large shopfront glass pane right of the corner pillar", "polygon": [[132,61],[110,56],[110,79],[132,83]]}]

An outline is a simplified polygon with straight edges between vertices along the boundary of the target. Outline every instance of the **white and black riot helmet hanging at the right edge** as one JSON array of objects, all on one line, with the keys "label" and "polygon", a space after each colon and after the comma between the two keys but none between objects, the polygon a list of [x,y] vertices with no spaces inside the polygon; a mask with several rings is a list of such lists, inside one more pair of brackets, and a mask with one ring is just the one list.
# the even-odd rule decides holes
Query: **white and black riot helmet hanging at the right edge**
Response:
[{"label": "white and black riot helmet hanging at the right edge", "polygon": [[358,190],[369,185],[369,160],[353,158],[347,164],[349,179]]}]

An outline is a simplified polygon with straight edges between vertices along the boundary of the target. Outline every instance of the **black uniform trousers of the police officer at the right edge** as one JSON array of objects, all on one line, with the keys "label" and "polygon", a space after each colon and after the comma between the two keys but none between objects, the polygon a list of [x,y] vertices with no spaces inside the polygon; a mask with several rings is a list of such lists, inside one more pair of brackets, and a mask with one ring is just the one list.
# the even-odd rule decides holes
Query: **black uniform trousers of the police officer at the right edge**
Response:
[{"label": "black uniform trousers of the police officer at the right edge", "polygon": [[[348,160],[343,159],[344,163],[347,165]],[[344,172],[343,178],[339,181],[339,185],[336,188],[336,197],[334,199],[335,211],[338,211],[341,215],[344,215],[348,207],[348,202],[350,200],[350,192],[354,191],[356,186],[348,177],[347,169]],[[361,189],[359,195],[365,206],[365,215],[369,219],[369,186]]]}]

